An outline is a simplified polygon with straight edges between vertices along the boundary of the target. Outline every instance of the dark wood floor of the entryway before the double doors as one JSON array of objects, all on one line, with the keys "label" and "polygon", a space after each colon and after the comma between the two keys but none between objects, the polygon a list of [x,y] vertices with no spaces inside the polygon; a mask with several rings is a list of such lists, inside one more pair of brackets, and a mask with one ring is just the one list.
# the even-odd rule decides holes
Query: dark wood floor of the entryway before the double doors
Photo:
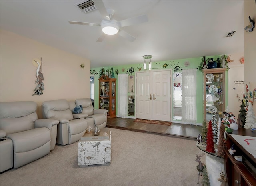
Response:
[{"label": "dark wood floor of the entryway before the double doors", "polygon": [[134,122],[130,118],[108,118],[107,127],[137,132],[146,132],[164,136],[176,136],[196,139],[202,132],[202,126],[172,123],[171,126]]}]

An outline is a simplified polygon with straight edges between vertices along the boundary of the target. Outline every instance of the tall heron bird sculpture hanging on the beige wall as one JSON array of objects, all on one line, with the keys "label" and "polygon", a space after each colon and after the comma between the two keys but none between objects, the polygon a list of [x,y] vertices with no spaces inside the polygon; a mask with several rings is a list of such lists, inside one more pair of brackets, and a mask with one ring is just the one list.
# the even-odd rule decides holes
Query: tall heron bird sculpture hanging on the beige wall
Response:
[{"label": "tall heron bird sculpture hanging on the beige wall", "polygon": [[34,66],[37,66],[37,69],[36,69],[36,81],[35,83],[37,83],[37,86],[36,88],[34,89],[34,95],[38,95],[40,96],[41,94],[43,94],[43,91],[44,91],[44,83],[43,83],[43,80],[44,80],[44,75],[42,74],[42,58],[40,59],[40,62],[39,62],[39,59],[33,59],[33,64]]}]

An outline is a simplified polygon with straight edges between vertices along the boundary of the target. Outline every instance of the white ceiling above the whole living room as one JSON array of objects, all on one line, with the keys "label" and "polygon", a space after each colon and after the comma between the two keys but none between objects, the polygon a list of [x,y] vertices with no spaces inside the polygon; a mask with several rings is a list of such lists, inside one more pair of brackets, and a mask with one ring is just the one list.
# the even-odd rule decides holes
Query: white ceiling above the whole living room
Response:
[{"label": "white ceiling above the whole living room", "polygon": [[[100,27],[71,21],[98,23],[98,10],[84,13],[76,0],[1,0],[1,29],[91,60],[91,67],[175,60],[244,52],[244,5],[242,0],[106,0],[117,21],[147,14],[148,22],[122,27],[136,38],[106,36]],[[249,22],[248,22],[249,23]],[[226,34],[236,33],[226,38]]]}]

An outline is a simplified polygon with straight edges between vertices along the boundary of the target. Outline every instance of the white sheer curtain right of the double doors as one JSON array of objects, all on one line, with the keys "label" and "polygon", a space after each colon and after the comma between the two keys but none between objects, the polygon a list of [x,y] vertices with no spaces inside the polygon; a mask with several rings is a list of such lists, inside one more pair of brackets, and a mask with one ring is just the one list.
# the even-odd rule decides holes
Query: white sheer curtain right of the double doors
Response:
[{"label": "white sheer curtain right of the double doors", "polygon": [[196,124],[196,69],[182,70],[182,122]]}]

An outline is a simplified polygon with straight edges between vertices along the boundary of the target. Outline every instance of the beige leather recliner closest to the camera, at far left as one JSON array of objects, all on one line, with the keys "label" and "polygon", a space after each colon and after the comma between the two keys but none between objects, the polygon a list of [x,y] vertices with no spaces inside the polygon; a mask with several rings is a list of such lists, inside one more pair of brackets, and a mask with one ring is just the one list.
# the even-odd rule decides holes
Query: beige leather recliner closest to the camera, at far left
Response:
[{"label": "beige leather recliner closest to the camera, at far left", "polygon": [[42,158],[54,149],[59,121],[38,119],[36,102],[1,102],[0,108],[1,172]]}]

